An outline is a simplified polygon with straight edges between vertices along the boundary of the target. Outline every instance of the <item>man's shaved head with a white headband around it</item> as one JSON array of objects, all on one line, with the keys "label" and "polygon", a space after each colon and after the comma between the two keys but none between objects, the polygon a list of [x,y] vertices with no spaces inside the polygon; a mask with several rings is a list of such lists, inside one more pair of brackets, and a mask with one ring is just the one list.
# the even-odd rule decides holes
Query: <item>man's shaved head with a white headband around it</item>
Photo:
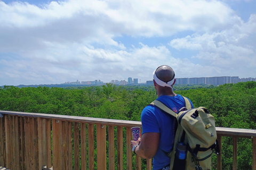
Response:
[{"label": "man's shaved head with a white headband around it", "polygon": [[161,65],[153,73],[154,83],[161,87],[172,88],[175,83],[175,73],[170,66]]}]

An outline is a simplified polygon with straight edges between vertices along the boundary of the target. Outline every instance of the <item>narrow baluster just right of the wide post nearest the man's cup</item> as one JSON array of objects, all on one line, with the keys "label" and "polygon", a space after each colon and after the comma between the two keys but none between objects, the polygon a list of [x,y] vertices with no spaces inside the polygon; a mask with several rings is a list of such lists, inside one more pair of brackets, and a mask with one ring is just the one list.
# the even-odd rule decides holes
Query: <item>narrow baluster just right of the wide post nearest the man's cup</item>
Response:
[{"label": "narrow baluster just right of the wide post nearest the man's cup", "polygon": [[114,126],[108,126],[108,169],[115,170],[115,133]]}]

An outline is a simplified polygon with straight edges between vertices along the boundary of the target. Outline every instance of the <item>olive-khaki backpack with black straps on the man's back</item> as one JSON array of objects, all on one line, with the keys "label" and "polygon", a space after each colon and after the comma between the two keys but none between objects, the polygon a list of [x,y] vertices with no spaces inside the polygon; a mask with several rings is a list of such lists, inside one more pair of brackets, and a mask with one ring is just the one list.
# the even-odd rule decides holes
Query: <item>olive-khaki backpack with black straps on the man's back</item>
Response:
[{"label": "olive-khaki backpack with black straps on the man's back", "polygon": [[[183,98],[186,102],[186,108],[181,108],[178,114],[161,103],[161,101],[155,100],[150,104],[176,117],[178,121],[174,149],[168,154],[171,157],[170,170],[211,169],[213,149],[215,149],[216,154],[219,154],[214,117],[205,107],[191,108],[189,100],[186,97]],[[178,142],[185,143],[186,146],[187,156],[184,163],[179,162],[177,156],[175,156],[175,152],[177,152],[175,148],[177,148]]]}]

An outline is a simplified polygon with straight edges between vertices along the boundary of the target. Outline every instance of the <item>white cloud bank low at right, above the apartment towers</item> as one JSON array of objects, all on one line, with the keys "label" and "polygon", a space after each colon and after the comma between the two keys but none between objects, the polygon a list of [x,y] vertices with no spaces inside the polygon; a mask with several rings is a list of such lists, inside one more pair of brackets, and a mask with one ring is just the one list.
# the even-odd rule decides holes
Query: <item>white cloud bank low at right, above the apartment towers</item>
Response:
[{"label": "white cloud bank low at right, above the apartment towers", "polygon": [[[255,15],[246,23],[235,23],[233,27],[220,32],[195,33],[185,38],[173,39],[169,45],[175,49],[196,50],[193,58],[198,58],[201,65],[215,67],[216,75],[238,75],[237,68],[243,68],[243,74],[255,75]],[[212,70],[212,74],[214,70]],[[204,73],[205,74],[205,73]],[[243,76],[243,75],[242,75]]]}]

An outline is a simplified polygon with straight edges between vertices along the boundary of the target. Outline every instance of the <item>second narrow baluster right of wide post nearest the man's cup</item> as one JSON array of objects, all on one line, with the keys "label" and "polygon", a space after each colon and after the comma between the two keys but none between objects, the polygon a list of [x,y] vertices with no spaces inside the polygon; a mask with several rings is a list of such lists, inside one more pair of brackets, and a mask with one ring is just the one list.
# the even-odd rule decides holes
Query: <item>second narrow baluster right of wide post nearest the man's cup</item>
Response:
[{"label": "second narrow baluster right of wide post nearest the man's cup", "polygon": [[123,127],[117,126],[117,169],[123,170]]}]

